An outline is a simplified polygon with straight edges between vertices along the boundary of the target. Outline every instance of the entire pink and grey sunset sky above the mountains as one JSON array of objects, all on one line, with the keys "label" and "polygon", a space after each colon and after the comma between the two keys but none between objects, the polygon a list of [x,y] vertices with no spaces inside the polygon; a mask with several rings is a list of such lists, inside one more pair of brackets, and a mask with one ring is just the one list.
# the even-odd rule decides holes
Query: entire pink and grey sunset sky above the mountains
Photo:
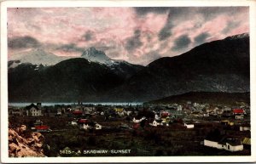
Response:
[{"label": "entire pink and grey sunset sky above the mountains", "polygon": [[247,7],[8,8],[9,55],[42,48],[80,56],[95,47],[112,59],[147,65],[244,32]]}]

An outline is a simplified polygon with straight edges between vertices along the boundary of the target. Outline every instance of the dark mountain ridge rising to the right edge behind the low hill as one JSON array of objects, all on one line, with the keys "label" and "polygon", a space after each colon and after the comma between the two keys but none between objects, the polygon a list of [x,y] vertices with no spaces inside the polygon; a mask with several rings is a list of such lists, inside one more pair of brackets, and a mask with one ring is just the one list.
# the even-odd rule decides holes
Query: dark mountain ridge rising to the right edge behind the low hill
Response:
[{"label": "dark mountain ridge rising to the right edge behind the low hill", "polygon": [[112,95],[147,101],[193,91],[248,92],[249,56],[249,36],[207,42],[187,53],[154,60]]}]

